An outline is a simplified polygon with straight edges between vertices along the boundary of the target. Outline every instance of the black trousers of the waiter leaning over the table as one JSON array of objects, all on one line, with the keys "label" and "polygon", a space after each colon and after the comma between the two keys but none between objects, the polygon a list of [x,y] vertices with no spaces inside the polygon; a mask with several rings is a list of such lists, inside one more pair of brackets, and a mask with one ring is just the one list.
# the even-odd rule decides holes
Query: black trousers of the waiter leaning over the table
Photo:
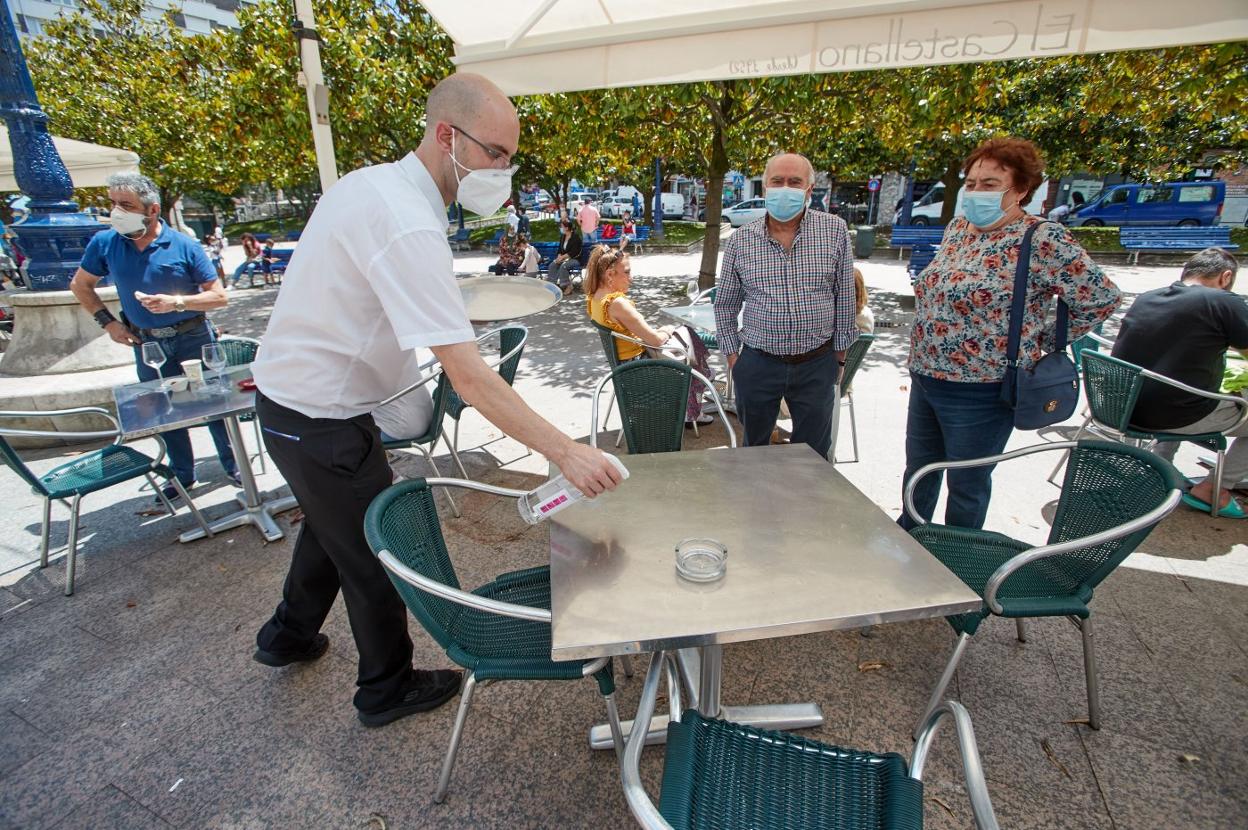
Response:
[{"label": "black trousers of the waiter leaning over the table", "polygon": [[407,608],[364,540],[364,510],[391,484],[391,468],[369,414],[308,418],[256,393],[265,447],[303,509],[282,602],[256,635],[266,652],[306,647],[338,590],[359,649],[356,708],[397,703],[412,678]]}]

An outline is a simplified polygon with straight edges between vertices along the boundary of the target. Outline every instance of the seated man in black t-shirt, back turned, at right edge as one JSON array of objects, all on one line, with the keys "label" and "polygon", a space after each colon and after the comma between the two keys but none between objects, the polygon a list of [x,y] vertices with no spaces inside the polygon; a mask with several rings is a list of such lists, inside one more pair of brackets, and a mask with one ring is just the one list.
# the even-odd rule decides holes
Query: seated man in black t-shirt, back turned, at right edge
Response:
[{"label": "seated man in black t-shirt, back turned, at right edge", "polygon": [[[1217,392],[1228,348],[1248,357],[1248,300],[1233,292],[1239,263],[1222,248],[1206,248],[1187,261],[1178,282],[1144,292],[1122,318],[1113,356],[1152,369],[1181,383]],[[1144,381],[1131,423],[1154,432],[1199,434],[1227,432],[1237,436],[1227,451],[1223,484],[1248,478],[1248,424],[1244,407],[1211,401],[1172,386]],[[1157,454],[1174,459],[1178,442],[1157,444]],[[1213,492],[1213,477],[1192,486],[1183,500],[1188,507],[1218,515],[1246,518],[1244,509],[1226,487]]]}]

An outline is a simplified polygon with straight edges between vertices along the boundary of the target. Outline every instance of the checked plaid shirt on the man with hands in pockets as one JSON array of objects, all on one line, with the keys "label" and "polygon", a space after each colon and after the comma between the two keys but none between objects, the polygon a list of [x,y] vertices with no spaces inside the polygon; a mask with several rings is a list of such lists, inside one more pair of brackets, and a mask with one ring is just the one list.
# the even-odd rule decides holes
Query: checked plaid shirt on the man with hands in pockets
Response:
[{"label": "checked plaid shirt on the man with hands in pockets", "polygon": [[766,217],[743,225],[724,242],[715,285],[715,334],[725,354],[743,342],[770,354],[802,354],[829,339],[836,351],[857,339],[854,255],[839,216],[807,210],[791,251],[768,233]]}]

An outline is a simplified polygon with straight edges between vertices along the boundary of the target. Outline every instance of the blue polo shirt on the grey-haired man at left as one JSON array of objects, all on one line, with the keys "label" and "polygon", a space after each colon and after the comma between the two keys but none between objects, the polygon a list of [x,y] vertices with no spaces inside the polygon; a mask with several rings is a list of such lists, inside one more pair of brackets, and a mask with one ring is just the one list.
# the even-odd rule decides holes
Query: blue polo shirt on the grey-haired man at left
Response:
[{"label": "blue polo shirt on the grey-haired man at left", "polygon": [[126,320],[140,328],[173,326],[201,312],[171,311],[167,315],[154,315],[135,298],[136,291],[149,295],[197,295],[200,286],[217,278],[217,270],[208,262],[203,247],[165,222],[160,225],[160,236],[142,251],[114,230],[96,233],[87,242],[81,266],[96,277],[112,277]]}]

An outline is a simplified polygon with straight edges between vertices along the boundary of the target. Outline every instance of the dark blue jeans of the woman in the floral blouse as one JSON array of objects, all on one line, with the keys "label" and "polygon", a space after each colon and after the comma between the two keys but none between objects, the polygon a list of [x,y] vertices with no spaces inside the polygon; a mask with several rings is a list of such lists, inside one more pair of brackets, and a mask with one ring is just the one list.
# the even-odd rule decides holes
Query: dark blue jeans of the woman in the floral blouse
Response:
[{"label": "dark blue jeans of the woman in the floral blouse", "polygon": [[[902,487],[926,464],[1000,453],[1011,432],[1013,411],[1001,402],[1000,383],[956,383],[911,372]],[[945,524],[983,527],[992,496],[992,467],[948,471]],[[915,489],[915,509],[926,520],[936,510],[940,482],[941,474],[932,473]],[[905,512],[899,522],[907,530],[916,525]]]}]

